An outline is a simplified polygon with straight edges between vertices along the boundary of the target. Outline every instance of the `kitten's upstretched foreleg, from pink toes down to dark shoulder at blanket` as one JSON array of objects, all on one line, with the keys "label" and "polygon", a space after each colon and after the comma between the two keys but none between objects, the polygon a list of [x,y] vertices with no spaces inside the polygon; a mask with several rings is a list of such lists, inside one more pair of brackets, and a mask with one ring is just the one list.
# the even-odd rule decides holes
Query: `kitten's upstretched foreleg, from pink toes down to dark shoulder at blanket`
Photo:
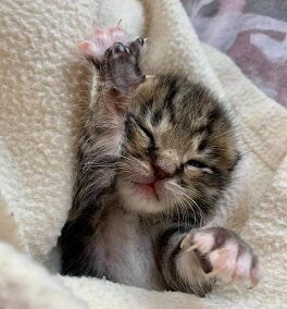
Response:
[{"label": "kitten's upstretched foreleg, from pink toes down to dark shoulder at blanket", "polygon": [[97,71],[98,92],[84,118],[73,205],[59,239],[62,274],[97,275],[87,248],[87,239],[95,232],[91,219],[97,221],[101,214],[100,197],[113,184],[126,110],[145,79],[139,69],[144,40],[128,46],[118,42],[125,39],[121,28],[98,29],[91,40],[80,45]]}]

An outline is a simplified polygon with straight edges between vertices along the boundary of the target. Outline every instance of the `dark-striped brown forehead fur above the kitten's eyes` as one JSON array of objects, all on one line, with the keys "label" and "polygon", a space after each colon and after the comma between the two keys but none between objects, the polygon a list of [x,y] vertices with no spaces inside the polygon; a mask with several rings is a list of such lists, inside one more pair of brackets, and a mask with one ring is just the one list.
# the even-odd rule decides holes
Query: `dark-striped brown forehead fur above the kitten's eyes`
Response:
[{"label": "dark-striped brown forehead fur above the kitten's eyes", "polygon": [[184,77],[160,75],[149,79],[139,87],[130,114],[155,139],[160,135],[172,147],[177,148],[178,141],[178,147],[191,147],[210,158],[214,154],[220,160],[222,154],[220,163],[226,165],[233,165],[237,157],[227,112],[205,87]]}]

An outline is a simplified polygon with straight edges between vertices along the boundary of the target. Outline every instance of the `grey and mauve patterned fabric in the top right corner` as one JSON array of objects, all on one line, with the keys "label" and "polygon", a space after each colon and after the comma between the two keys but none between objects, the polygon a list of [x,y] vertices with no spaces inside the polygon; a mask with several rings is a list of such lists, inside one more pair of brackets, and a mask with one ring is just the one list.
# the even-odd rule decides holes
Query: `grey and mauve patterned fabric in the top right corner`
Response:
[{"label": "grey and mauve patterned fabric in the top right corner", "polygon": [[287,0],[182,0],[201,41],[287,107]]}]

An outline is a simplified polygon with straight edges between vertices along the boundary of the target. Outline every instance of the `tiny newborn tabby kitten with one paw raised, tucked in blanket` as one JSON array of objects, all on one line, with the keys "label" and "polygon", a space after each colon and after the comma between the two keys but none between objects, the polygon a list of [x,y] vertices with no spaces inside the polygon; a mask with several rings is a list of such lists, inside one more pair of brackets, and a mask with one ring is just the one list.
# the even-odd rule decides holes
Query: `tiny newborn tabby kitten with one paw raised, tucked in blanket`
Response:
[{"label": "tiny newborn tabby kitten with one paw raised, tucked in blanket", "polygon": [[257,257],[215,220],[240,160],[233,123],[204,86],[180,74],[146,78],[144,45],[120,27],[80,45],[98,96],[59,240],[62,274],[199,296],[220,275],[255,285]]}]

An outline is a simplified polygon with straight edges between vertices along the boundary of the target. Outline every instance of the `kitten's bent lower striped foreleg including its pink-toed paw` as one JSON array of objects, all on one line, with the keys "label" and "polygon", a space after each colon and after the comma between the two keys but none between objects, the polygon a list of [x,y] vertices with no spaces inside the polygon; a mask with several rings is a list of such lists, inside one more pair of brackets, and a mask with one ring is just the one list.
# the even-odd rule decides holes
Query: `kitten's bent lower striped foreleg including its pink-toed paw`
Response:
[{"label": "kitten's bent lower striped foreleg including its pink-toed paw", "polygon": [[250,281],[260,279],[258,258],[235,233],[223,227],[171,230],[161,238],[162,275],[172,289],[204,296],[216,277]]}]

